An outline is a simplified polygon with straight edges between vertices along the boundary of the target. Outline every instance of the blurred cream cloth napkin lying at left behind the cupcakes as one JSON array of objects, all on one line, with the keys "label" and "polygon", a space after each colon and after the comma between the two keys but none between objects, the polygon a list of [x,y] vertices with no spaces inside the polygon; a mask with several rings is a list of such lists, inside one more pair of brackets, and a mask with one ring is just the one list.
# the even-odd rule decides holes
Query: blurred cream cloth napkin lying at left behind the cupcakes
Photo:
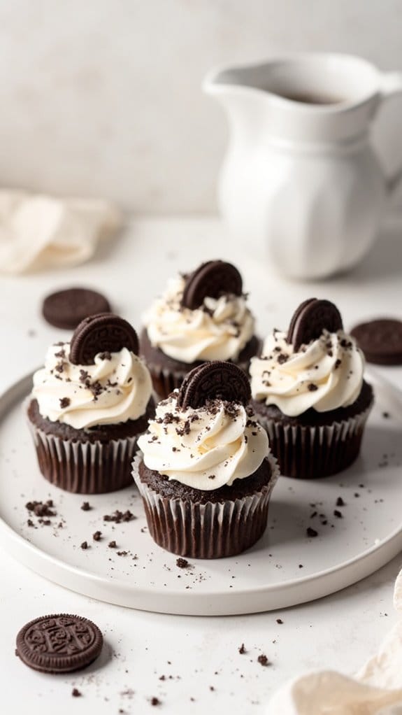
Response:
[{"label": "blurred cream cloth napkin lying at left behind the cupcakes", "polygon": [[121,222],[119,210],[101,199],[63,199],[0,189],[0,272],[82,263]]}]

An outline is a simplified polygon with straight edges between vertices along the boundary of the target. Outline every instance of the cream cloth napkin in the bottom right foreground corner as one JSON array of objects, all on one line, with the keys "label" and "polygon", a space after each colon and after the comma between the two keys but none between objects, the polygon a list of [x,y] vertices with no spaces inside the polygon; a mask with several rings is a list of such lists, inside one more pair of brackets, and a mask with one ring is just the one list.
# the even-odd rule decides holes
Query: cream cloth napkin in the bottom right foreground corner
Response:
[{"label": "cream cloth napkin in the bottom right foreground corner", "polygon": [[401,620],[354,678],[317,671],[293,679],[273,696],[267,715],[402,715],[402,571],[393,605]]}]

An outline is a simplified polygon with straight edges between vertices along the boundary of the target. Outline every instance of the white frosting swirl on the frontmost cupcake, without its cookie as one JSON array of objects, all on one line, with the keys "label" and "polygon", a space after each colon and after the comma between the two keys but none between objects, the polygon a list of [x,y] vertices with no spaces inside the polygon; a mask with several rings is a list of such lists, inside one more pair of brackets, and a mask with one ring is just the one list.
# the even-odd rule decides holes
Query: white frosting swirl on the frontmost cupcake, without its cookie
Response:
[{"label": "white frosting swirl on the frontmost cupcake, without its cookie", "polygon": [[258,469],[268,454],[268,437],[243,405],[228,410],[216,402],[213,410],[180,410],[176,399],[173,394],[159,403],[148,432],[139,438],[149,469],[206,491]]}]

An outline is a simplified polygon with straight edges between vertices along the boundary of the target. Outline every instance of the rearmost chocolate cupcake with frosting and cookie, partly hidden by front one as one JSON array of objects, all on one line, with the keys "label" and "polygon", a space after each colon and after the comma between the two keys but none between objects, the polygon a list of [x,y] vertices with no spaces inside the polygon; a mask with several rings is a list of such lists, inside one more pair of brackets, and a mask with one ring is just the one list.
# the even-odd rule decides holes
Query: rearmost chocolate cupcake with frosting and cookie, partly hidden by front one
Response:
[{"label": "rearmost chocolate cupcake with frosting and cookie, partly hidden by front one", "polygon": [[223,261],[208,261],[170,280],[144,323],[141,354],[160,398],[179,388],[193,368],[211,360],[231,361],[247,373],[260,347],[241,275]]}]

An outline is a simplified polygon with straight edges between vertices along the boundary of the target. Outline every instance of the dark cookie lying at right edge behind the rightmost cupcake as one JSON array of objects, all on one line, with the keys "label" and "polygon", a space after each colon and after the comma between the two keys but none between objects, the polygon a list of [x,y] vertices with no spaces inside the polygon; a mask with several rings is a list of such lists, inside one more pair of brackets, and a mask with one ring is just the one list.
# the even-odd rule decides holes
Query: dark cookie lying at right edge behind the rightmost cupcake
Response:
[{"label": "dark cookie lying at right edge behind the rightmost cupcake", "polygon": [[351,330],[368,363],[402,365],[402,322],[380,318],[356,325]]}]

